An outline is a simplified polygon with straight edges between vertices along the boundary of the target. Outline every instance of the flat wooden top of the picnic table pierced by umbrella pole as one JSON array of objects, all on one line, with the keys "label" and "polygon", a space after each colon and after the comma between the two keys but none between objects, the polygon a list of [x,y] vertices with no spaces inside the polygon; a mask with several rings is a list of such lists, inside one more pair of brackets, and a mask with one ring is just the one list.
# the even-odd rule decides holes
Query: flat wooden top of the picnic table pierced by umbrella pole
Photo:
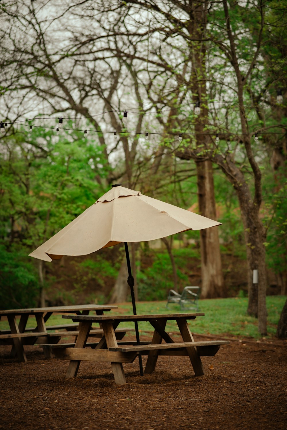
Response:
[{"label": "flat wooden top of the picnic table pierced by umbrella pole", "polygon": [[151,315],[62,315],[62,318],[70,318],[73,321],[151,321],[153,319],[195,319],[204,316],[204,313],[160,313]]}]

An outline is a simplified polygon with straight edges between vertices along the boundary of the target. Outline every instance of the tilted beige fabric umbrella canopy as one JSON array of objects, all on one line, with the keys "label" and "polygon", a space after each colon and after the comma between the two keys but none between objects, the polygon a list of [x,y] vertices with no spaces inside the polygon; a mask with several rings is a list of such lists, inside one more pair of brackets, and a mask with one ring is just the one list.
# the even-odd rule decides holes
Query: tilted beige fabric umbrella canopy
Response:
[{"label": "tilted beige fabric umbrella canopy", "polygon": [[52,261],[87,255],[121,242],[142,242],[221,224],[204,216],[116,186],[30,256]]}]

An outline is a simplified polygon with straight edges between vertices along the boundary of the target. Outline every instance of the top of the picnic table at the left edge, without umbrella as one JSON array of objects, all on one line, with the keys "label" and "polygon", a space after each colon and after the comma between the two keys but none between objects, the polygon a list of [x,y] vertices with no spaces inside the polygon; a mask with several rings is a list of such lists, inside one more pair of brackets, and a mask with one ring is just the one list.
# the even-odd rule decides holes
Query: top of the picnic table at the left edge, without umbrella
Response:
[{"label": "top of the picnic table at the left edge, without umbrella", "polygon": [[44,312],[77,312],[82,310],[111,310],[117,309],[115,305],[102,304],[78,304],[71,306],[50,306],[50,307],[30,307],[26,309],[7,309],[0,310],[0,316],[5,315],[21,315],[23,313],[44,313]]}]

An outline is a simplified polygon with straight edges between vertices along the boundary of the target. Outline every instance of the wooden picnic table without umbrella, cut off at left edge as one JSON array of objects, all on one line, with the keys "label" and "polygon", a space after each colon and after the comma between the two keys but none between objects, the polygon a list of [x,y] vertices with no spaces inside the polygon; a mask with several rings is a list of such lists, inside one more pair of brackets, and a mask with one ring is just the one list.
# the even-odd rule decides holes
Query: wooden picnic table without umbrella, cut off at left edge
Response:
[{"label": "wooden picnic table without umbrella, cut off at left edge", "polygon": [[[11,356],[17,355],[19,361],[27,362],[24,345],[34,345],[35,343],[49,344],[51,340],[57,343],[63,335],[77,335],[79,332],[79,323],[65,324],[59,326],[46,326],[46,322],[52,313],[74,313],[77,316],[88,315],[89,311],[95,311],[97,315],[103,315],[104,311],[115,309],[117,306],[82,304],[73,306],[52,306],[52,307],[33,307],[27,309],[9,309],[0,310],[1,317],[6,316],[9,322],[10,330],[0,330],[0,345],[12,345]],[[20,316],[17,324],[16,316]],[[27,328],[28,318],[35,316],[37,326]],[[56,333],[48,333],[47,330],[56,330]],[[72,331],[73,330],[73,331]],[[97,331],[99,333],[97,333]],[[94,329],[94,335],[99,334],[102,337],[102,328]],[[49,350],[44,349],[46,358],[51,357]]]}]

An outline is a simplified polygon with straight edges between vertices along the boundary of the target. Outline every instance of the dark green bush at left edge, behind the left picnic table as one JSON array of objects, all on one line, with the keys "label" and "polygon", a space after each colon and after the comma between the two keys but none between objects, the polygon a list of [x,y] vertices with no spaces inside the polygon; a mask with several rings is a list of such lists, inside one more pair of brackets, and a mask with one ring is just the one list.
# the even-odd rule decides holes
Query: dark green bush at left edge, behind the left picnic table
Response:
[{"label": "dark green bush at left edge, behind the left picnic table", "polygon": [[37,273],[27,249],[0,244],[0,309],[35,306],[39,295]]}]

